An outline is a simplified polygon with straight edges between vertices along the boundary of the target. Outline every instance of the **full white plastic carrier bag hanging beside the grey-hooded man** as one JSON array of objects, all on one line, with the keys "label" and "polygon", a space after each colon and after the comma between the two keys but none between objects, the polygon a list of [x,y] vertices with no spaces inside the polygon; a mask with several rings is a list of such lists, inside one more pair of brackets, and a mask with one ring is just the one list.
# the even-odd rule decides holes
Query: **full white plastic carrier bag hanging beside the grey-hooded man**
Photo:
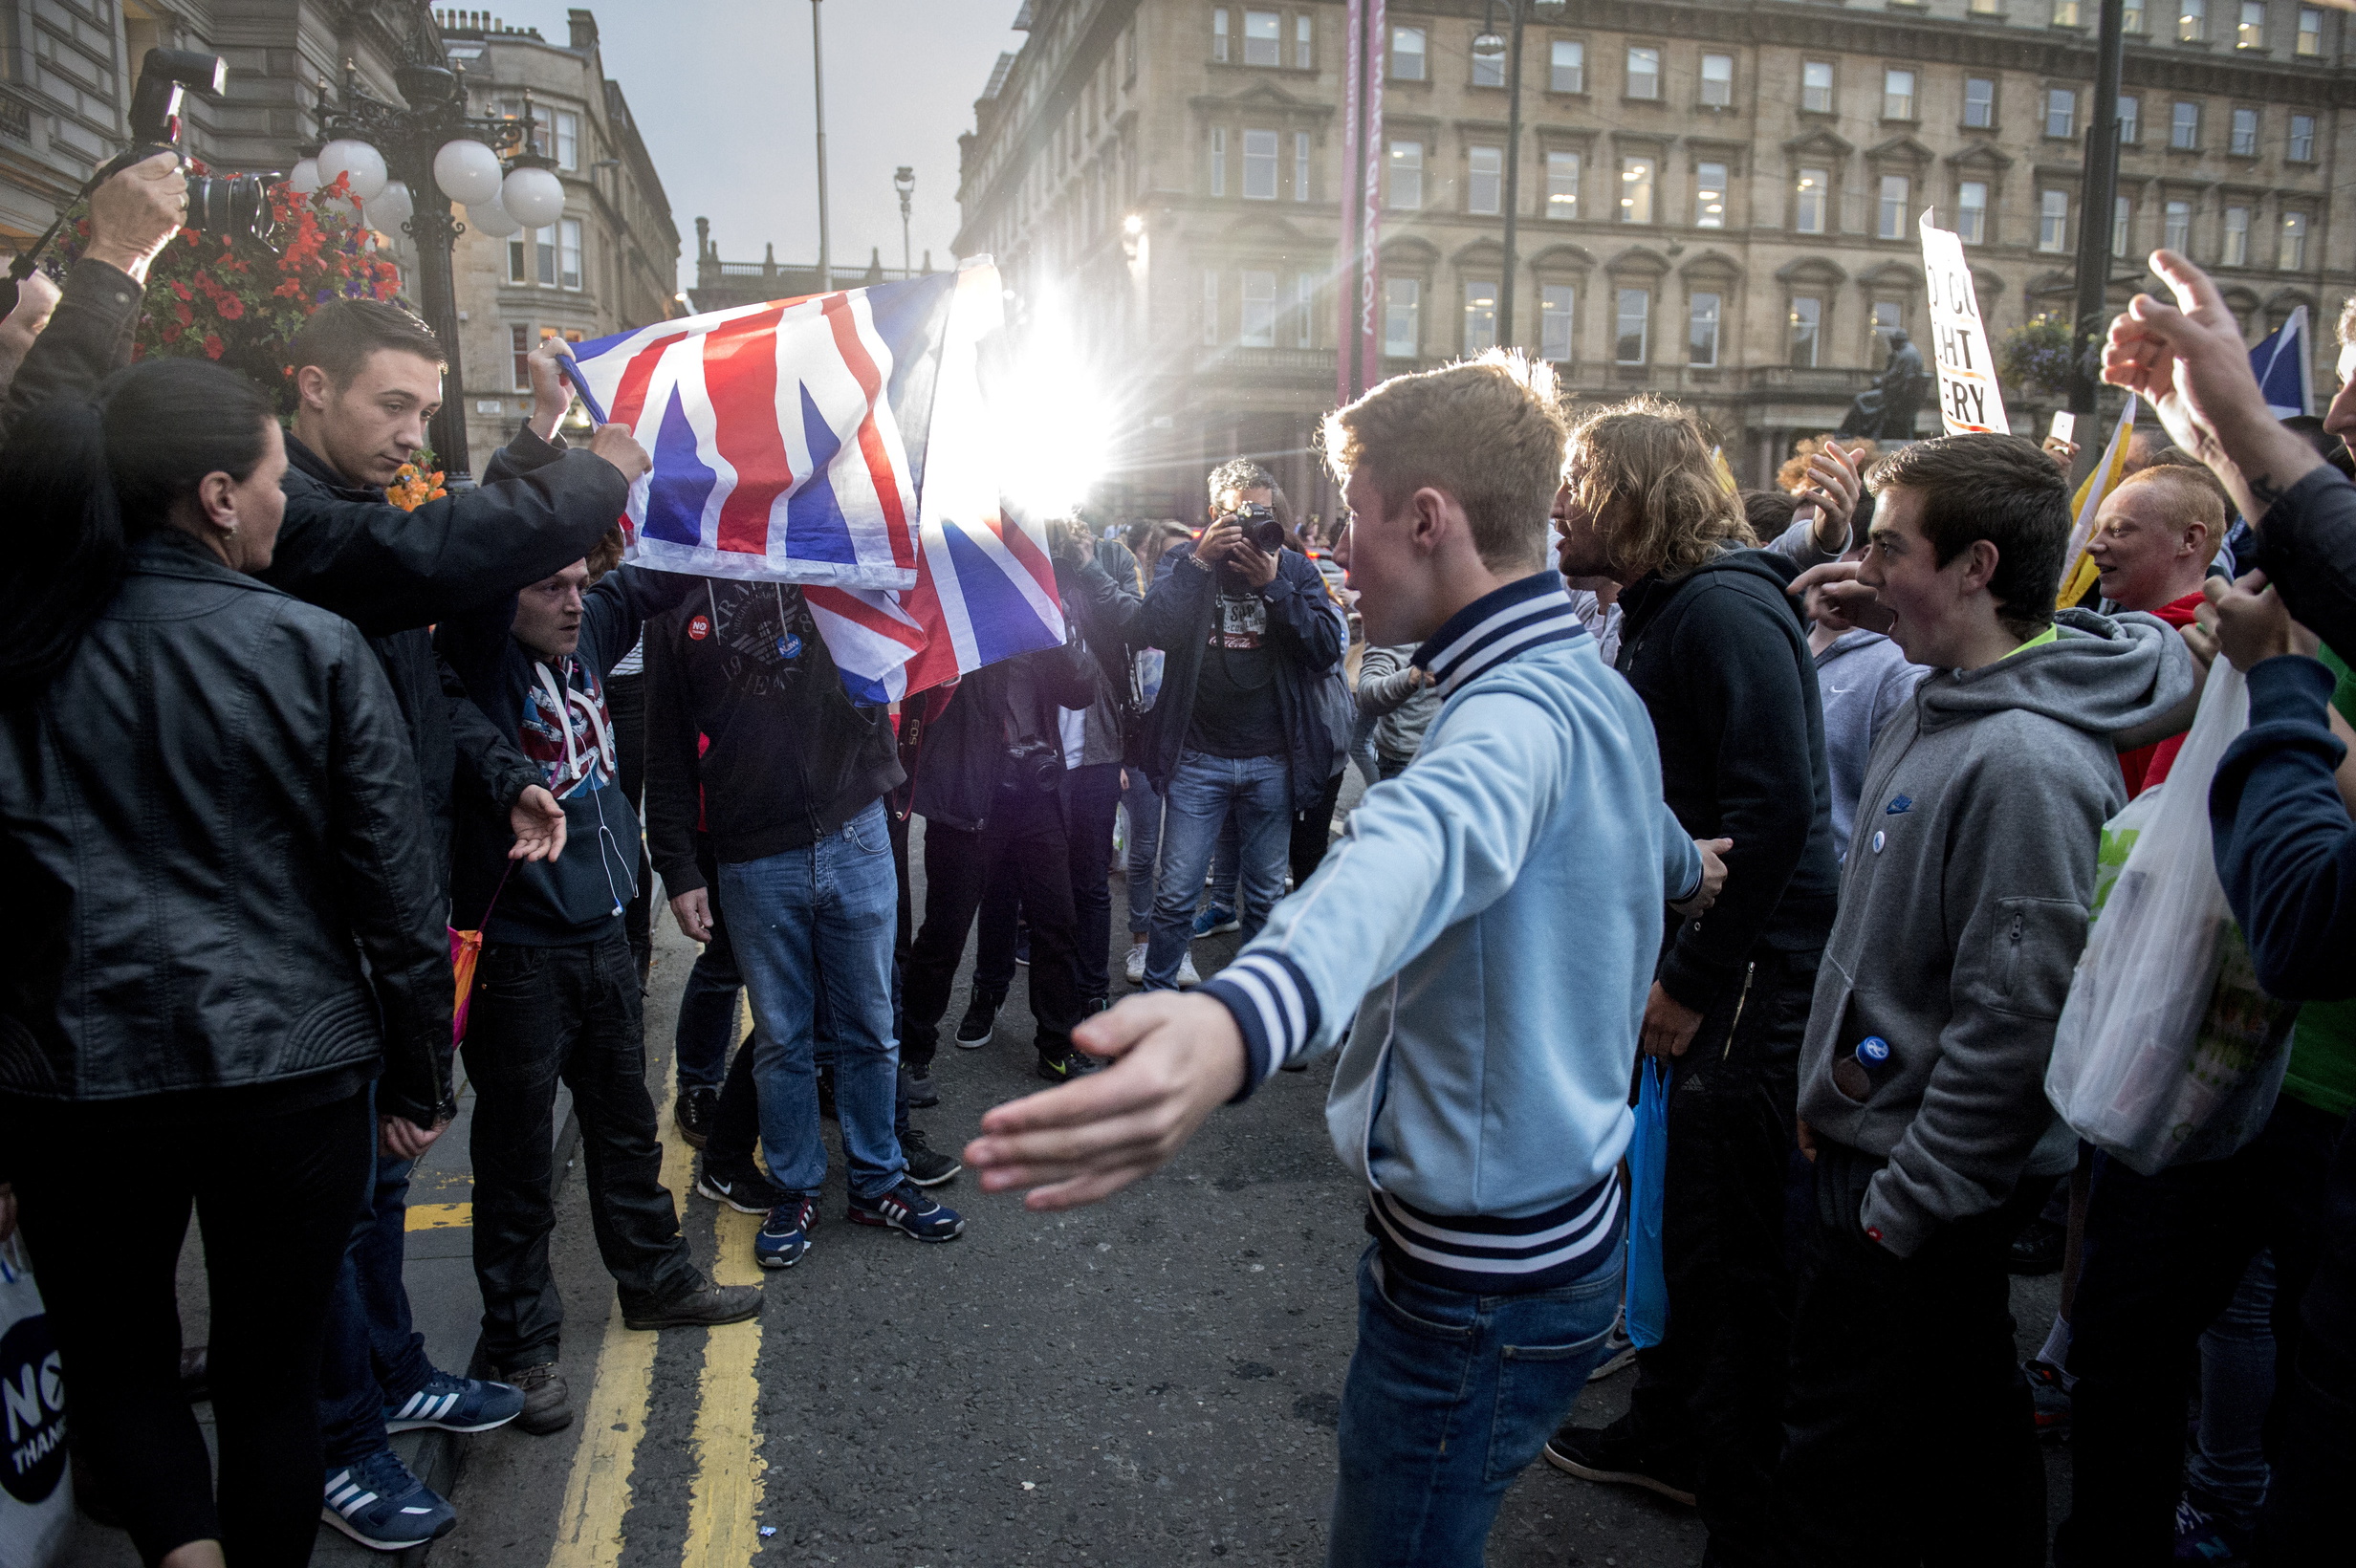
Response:
[{"label": "full white plastic carrier bag hanging beside the grey-hooded man", "polygon": [[2248,723],[2248,683],[2217,659],[2168,782],[2104,824],[2094,928],[2045,1069],[2062,1121],[2144,1175],[2250,1142],[2290,1059],[2292,1010],[2257,989],[2210,850],[2210,782]]}]

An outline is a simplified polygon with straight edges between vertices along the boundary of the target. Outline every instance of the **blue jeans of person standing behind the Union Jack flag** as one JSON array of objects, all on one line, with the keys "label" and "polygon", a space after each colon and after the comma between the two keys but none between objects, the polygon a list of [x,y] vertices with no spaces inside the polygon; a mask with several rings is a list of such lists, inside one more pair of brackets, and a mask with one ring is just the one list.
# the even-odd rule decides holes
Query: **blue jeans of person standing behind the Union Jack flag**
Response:
[{"label": "blue jeans of person standing behind the Union Jack flag", "polygon": [[891,949],[900,888],[884,805],[801,850],[721,866],[721,902],[752,1001],[770,1180],[792,1194],[815,1194],[827,1180],[810,1029],[825,975],[851,1191],[884,1196],[907,1170],[893,1135],[900,1041],[891,1026]]}]

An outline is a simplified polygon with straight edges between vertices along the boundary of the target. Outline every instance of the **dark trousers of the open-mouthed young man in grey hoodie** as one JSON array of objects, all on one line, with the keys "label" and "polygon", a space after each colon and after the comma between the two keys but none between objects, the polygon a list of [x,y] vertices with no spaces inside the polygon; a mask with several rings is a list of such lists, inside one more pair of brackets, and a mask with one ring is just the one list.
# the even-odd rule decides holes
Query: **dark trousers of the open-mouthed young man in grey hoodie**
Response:
[{"label": "dark trousers of the open-mouthed young man in grey hoodie", "polygon": [[2012,1361],[2005,1260],[2045,1182],[1897,1257],[1857,1217],[1880,1161],[1824,1137],[1816,1149],[1776,1467],[1788,1561],[2040,1568],[2045,1460]]}]

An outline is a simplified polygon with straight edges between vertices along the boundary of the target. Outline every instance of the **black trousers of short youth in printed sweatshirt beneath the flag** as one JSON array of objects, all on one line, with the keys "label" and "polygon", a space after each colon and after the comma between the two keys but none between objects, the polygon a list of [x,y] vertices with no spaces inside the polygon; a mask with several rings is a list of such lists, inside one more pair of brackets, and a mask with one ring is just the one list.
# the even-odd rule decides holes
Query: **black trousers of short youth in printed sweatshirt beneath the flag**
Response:
[{"label": "black trousers of short youth in printed sweatshirt beneath the flag", "polygon": [[565,1307],[549,1274],[556,1229],[556,1083],[573,1090],[589,1175],[589,1227],[624,1307],[700,1283],[662,1184],[646,1024],[629,942],[485,942],[466,1017],[474,1083],[474,1278],[483,1354],[518,1368],[556,1356]]}]

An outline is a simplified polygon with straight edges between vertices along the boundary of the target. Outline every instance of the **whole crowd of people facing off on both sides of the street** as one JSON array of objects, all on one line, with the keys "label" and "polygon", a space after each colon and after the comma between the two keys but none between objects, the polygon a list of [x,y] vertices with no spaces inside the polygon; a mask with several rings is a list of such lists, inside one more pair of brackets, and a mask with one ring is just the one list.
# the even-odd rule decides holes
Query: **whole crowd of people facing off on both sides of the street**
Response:
[{"label": "whole crowd of people facing off on both sides of the street", "polygon": [[[1699,1509],[1708,1563],[2031,1568],[2059,1429],[2069,1568],[2325,1561],[2356,1474],[2356,386],[2276,421],[2179,257],[2175,304],[2111,330],[2175,445],[2102,499],[2090,586],[2066,447],[1826,438],[1741,492],[1689,410],[1489,353],[1326,419],[1345,527],[1249,457],[1199,520],[1053,520],[1067,640],[881,709],[794,586],[622,563],[648,457],[558,436],[563,344],[483,483],[408,511],[384,485],[443,351],[405,311],[320,306],[285,424],[217,365],[125,365],[184,202],[170,160],[118,174],[0,332],[0,1234],[82,1504],[144,1561],[302,1563],[320,1519],[434,1540],[455,1511],[391,1434],[570,1424],[558,1085],[622,1323],[761,1311],[660,1177],[657,876],[700,944],[671,1132],[766,1269],[822,1238],[827,1118],[843,1220],[949,1243],[966,1165],[1100,1201],[1336,1055],[1369,1245],[1331,1563],[1480,1563],[1543,1455]],[[2356,304],[2342,341],[2356,372]],[[2259,1130],[2146,1172],[2047,1062],[2106,822],[2168,784],[2219,657],[2250,720],[2191,786],[2257,982],[2304,1010]],[[947,1151],[914,1114],[975,930],[952,1041],[992,1043],[1027,968],[1051,1088]],[[1588,1427],[1630,1349],[1644,1057],[1668,1321]],[[485,1377],[426,1358],[403,1288],[457,1067]],[[123,1158],[158,1135],[186,1156]],[[2010,1274],[2052,1267],[2024,1366]]]}]

